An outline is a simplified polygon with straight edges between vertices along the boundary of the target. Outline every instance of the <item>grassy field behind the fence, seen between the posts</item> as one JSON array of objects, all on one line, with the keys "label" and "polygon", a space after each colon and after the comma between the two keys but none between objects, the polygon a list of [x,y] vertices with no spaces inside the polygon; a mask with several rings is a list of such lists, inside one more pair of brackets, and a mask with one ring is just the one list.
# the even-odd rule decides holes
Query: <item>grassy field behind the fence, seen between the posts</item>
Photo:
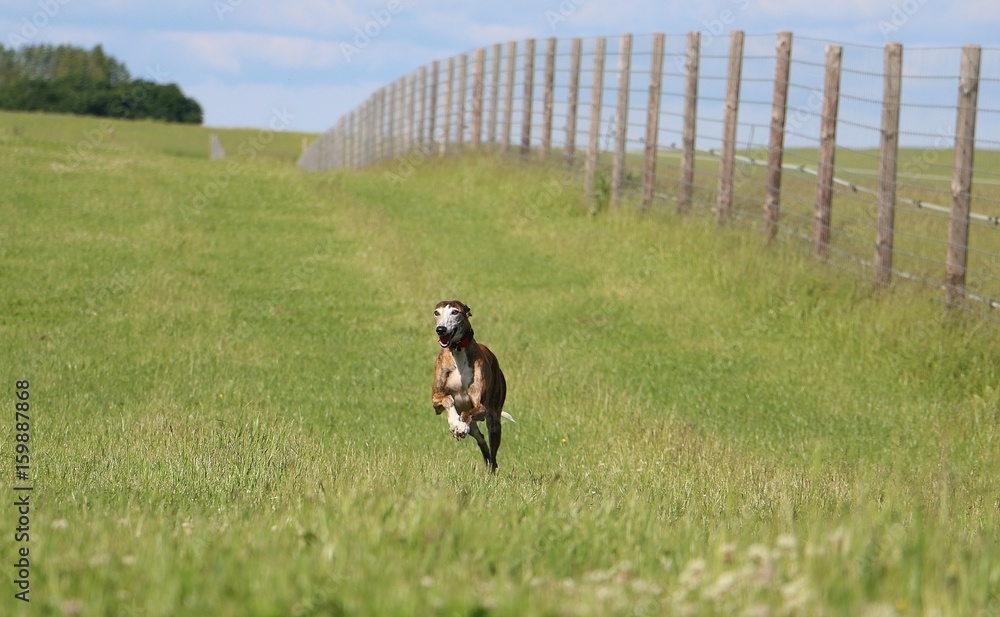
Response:
[{"label": "grassy field behind the fence, seen between the posts", "polygon": [[[740,151],[756,164],[737,161],[734,173],[732,217],[737,224],[760,229],[763,226],[767,187],[766,150]],[[954,154],[948,149],[904,148],[897,163],[897,204],[894,224],[893,269],[897,278],[915,278],[928,286],[943,287],[949,250],[950,214],[940,208],[951,207],[951,165]],[[1000,153],[992,150],[976,152],[976,173],[973,178],[971,210],[975,215],[1000,217],[1000,185],[991,175]],[[786,165],[803,165],[815,170],[815,150],[788,149]],[[870,263],[874,257],[877,218],[877,198],[863,192],[878,188],[879,155],[873,150],[838,149],[836,171],[838,179],[850,182],[861,190],[843,185],[835,187],[832,204],[831,239],[828,256],[839,267],[870,279]],[[610,162],[608,163],[610,165]],[[639,155],[628,159],[631,188],[641,191],[642,161]],[[667,152],[660,158],[657,175],[658,193],[680,193],[680,154]],[[718,182],[717,158],[700,155],[695,166],[695,199],[705,208],[714,208]],[[920,206],[914,203],[920,202]],[[781,233],[807,247],[814,234],[816,176],[793,169],[782,172],[780,224]],[[979,298],[1000,299],[1000,226],[994,222],[973,219],[968,240],[968,273],[966,289]],[[943,299],[944,292],[941,292]],[[973,303],[989,312],[986,302]]]}]

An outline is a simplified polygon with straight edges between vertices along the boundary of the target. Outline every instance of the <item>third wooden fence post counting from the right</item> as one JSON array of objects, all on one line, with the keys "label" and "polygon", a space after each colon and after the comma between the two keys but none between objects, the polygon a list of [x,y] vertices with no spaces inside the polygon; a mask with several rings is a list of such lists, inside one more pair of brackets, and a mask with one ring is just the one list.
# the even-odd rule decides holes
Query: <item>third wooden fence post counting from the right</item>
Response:
[{"label": "third wooden fence post counting from the right", "polygon": [[833,211],[833,170],[837,152],[837,111],[840,108],[840,63],[843,47],[826,46],[823,77],[823,117],[820,122],[819,162],[816,174],[816,215],[813,221],[813,251],[824,257],[830,244]]}]

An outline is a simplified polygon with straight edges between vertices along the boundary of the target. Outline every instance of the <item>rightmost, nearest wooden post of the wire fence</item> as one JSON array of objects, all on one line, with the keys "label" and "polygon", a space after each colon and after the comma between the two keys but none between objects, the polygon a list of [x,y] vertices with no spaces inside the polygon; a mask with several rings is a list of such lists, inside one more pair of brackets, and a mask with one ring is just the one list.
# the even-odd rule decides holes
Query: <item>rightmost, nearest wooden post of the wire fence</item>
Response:
[{"label": "rightmost, nearest wooden post of the wire fence", "polygon": [[961,307],[965,298],[968,264],[969,209],[972,201],[972,163],[976,151],[976,107],[979,104],[978,45],[962,48],[955,119],[955,166],[951,177],[951,226],[948,230],[946,293],[949,307]]}]

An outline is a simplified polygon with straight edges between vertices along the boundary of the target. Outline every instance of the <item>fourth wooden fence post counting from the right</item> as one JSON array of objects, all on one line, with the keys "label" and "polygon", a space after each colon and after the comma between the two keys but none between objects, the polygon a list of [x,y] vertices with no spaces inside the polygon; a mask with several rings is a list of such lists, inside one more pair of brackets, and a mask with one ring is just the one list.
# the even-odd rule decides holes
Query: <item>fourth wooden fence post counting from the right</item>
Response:
[{"label": "fourth wooden fence post counting from the right", "polygon": [[785,153],[785,117],[788,113],[788,80],[792,68],[792,33],[779,32],[775,45],[774,96],[771,100],[771,137],[767,149],[767,192],[764,198],[764,234],[778,235],[781,211],[781,163]]}]

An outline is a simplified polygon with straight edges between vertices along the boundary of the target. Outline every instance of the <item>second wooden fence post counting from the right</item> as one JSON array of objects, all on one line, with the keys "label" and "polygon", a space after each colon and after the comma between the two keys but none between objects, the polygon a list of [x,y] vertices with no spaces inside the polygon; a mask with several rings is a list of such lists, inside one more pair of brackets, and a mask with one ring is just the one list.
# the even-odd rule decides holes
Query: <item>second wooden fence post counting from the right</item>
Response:
[{"label": "second wooden fence post counting from the right", "polygon": [[899,107],[903,85],[903,45],[885,46],[885,94],[882,99],[882,147],[879,159],[875,231],[875,284],[892,282],[892,244],[896,218],[896,171],[899,157]]}]

